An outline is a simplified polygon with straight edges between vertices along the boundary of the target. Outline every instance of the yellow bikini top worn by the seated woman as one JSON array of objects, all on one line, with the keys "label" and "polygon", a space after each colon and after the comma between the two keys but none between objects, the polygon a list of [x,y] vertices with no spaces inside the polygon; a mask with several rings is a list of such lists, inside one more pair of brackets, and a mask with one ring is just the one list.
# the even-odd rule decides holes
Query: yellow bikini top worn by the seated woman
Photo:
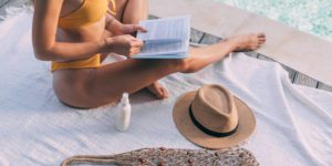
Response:
[{"label": "yellow bikini top worn by the seated woman", "polygon": [[[114,0],[113,0],[114,1]],[[59,27],[66,29],[75,29],[97,22],[107,11],[115,12],[115,3],[113,10],[108,10],[108,0],[84,0],[82,6],[69,13],[59,18]]]}]

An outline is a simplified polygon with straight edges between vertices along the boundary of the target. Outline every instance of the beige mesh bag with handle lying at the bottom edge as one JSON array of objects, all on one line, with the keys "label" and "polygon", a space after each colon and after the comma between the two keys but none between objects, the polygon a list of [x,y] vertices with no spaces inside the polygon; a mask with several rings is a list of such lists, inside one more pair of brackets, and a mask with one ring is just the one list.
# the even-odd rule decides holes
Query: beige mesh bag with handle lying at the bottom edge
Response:
[{"label": "beige mesh bag with handle lying at the bottom edge", "polygon": [[73,156],[62,162],[70,165],[110,166],[257,166],[259,163],[246,148],[227,149],[175,149],[143,148],[110,156]]}]

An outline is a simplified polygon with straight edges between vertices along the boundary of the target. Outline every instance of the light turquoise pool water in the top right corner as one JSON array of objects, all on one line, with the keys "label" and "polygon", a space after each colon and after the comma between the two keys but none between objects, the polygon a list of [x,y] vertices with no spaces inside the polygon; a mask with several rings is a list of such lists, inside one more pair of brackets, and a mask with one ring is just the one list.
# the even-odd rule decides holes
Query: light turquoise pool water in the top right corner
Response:
[{"label": "light turquoise pool water in the top right corner", "polygon": [[332,0],[215,0],[332,41]]}]

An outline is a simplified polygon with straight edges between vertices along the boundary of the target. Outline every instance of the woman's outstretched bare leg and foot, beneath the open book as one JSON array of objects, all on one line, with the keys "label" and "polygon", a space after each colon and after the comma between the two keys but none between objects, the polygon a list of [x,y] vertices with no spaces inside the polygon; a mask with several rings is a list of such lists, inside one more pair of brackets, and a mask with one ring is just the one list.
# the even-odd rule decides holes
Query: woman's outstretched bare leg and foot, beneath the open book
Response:
[{"label": "woman's outstretched bare leg and foot, beneath the open book", "polygon": [[122,93],[134,93],[176,72],[196,72],[222,60],[231,51],[255,50],[264,42],[263,34],[248,34],[224,40],[214,45],[191,49],[184,60],[126,60],[93,71],[87,83],[87,107],[117,101]]}]

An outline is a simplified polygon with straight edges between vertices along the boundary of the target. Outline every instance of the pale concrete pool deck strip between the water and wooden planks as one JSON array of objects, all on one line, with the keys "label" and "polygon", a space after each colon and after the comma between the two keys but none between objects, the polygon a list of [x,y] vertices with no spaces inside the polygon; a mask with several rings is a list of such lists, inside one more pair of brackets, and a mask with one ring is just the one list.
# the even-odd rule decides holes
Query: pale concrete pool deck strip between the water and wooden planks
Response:
[{"label": "pale concrete pool deck strip between the water and wooden planks", "polygon": [[291,71],[290,75],[294,75],[294,83],[331,90],[323,84],[332,85],[331,42],[212,0],[149,0],[149,13],[159,18],[190,14],[191,27],[211,34],[210,39],[262,31],[267,34],[268,42],[257,51],[260,59],[264,54],[294,69],[295,71],[288,69]]}]

